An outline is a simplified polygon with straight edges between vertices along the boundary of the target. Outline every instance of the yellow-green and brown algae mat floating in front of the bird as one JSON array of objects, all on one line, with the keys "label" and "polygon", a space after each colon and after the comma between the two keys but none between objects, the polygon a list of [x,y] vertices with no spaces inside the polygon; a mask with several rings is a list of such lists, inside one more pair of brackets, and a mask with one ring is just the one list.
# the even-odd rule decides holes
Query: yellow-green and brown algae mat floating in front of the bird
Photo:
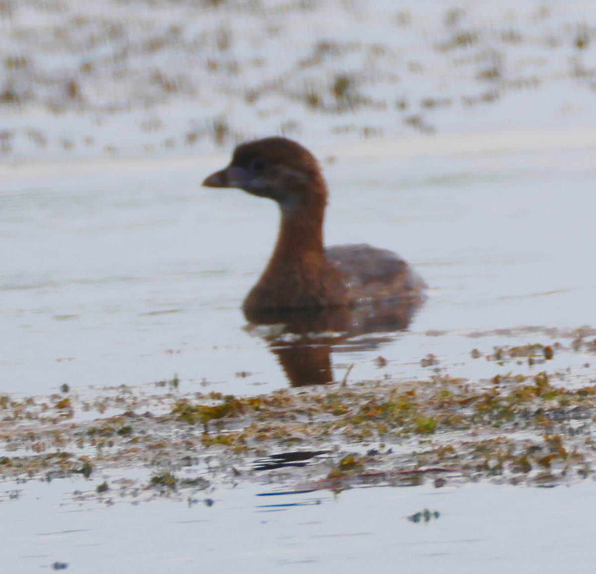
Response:
[{"label": "yellow-green and brown algae mat floating in front of the bird", "polygon": [[[8,450],[0,476],[89,478],[114,466],[167,468],[149,480],[167,493],[184,488],[173,474],[178,468],[211,460],[232,478],[247,476],[238,469],[254,458],[291,449],[332,453],[331,470],[328,462],[309,462],[313,488],[412,485],[427,475],[437,488],[483,478],[552,485],[593,474],[596,385],[585,383],[566,386],[561,373],[541,371],[482,381],[381,378],[255,396],[178,389],[147,398],[114,387],[97,402],[120,405],[123,414],[94,421],[56,415],[61,409],[52,407],[64,397],[4,396],[0,440]],[[80,399],[69,399],[69,411],[80,408]],[[145,412],[137,414],[141,405]],[[151,414],[152,405],[162,414]]]}]

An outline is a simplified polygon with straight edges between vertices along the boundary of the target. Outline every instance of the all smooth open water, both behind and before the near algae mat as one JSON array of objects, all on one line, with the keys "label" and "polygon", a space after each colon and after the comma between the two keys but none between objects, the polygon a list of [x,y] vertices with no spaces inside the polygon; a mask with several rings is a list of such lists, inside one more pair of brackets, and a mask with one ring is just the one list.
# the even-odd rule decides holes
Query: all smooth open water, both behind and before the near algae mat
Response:
[{"label": "all smooth open water, both behind and before the near algae mat", "polygon": [[[420,359],[428,353],[451,374],[493,376],[511,365],[470,361],[473,347],[545,337],[467,334],[596,324],[594,146],[426,142],[315,150],[336,158],[325,162],[328,243],[396,250],[431,286],[408,330],[334,347],[336,379],[352,364],[355,379],[427,376]],[[277,213],[240,191],[200,187],[227,161],[0,168],[1,393],[45,394],[63,383],[93,393],[90,385],[151,384],[174,373],[182,390],[261,393],[289,384],[267,330],[247,329],[240,312],[271,251]],[[592,374],[585,362],[567,353],[550,368]],[[7,567],[593,570],[592,482],[367,488],[338,498],[260,497],[267,486],[241,484],[201,492],[190,507],[116,495],[111,506],[77,501],[75,491],[92,493],[105,478],[3,483]],[[439,518],[406,519],[424,508]]]}]

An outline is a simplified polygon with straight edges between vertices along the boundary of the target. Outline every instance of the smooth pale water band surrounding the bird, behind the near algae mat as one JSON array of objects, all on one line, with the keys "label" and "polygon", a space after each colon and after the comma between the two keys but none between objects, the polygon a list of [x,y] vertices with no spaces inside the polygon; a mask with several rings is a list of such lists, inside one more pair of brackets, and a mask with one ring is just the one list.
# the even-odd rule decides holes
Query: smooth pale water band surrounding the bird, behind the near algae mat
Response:
[{"label": "smooth pale water band surrounding the bird, behind the near algae mat", "polygon": [[[335,347],[336,380],[352,364],[357,379],[424,376],[428,353],[457,370],[473,347],[503,344],[464,337],[474,331],[594,324],[594,142],[492,138],[492,147],[485,135],[429,139],[427,151],[424,141],[315,150],[334,157],[325,162],[327,243],[396,250],[430,285],[405,333]],[[240,311],[278,214],[241,191],[200,186],[227,161],[2,168],[2,392],[136,385],[175,373],[183,388],[225,393],[288,384]],[[544,339],[522,334],[507,344]],[[560,366],[585,357],[566,361]],[[467,369],[479,376],[484,367]]]}]

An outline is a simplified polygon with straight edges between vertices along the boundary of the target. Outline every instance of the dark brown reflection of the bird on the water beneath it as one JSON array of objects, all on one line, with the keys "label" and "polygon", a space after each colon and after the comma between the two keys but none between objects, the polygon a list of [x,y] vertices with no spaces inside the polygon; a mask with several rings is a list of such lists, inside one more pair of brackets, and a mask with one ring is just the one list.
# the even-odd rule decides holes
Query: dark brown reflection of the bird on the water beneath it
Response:
[{"label": "dark brown reflection of the bird on the water beneath it", "polygon": [[[333,382],[331,350],[346,345],[351,349],[374,349],[392,340],[392,333],[408,328],[424,297],[384,300],[352,308],[290,309],[244,312],[251,330],[269,344],[293,387]],[[269,326],[261,330],[260,326]],[[366,334],[377,335],[367,339]],[[385,336],[379,336],[383,333]],[[358,339],[355,339],[358,337]]]}]

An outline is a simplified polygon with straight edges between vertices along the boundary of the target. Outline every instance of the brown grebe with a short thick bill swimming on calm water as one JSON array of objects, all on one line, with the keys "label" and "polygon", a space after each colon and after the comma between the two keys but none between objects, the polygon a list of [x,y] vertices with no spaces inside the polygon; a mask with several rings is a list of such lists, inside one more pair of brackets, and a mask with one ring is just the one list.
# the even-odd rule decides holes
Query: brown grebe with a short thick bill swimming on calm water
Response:
[{"label": "brown grebe with a short thick bill swimming on calm water", "polygon": [[203,185],[240,188],[277,202],[277,243],[259,281],[244,300],[260,310],[353,307],[420,297],[426,284],[395,253],[368,244],[324,246],[328,203],[321,166],[302,145],[270,137],[238,145],[231,163]]}]

